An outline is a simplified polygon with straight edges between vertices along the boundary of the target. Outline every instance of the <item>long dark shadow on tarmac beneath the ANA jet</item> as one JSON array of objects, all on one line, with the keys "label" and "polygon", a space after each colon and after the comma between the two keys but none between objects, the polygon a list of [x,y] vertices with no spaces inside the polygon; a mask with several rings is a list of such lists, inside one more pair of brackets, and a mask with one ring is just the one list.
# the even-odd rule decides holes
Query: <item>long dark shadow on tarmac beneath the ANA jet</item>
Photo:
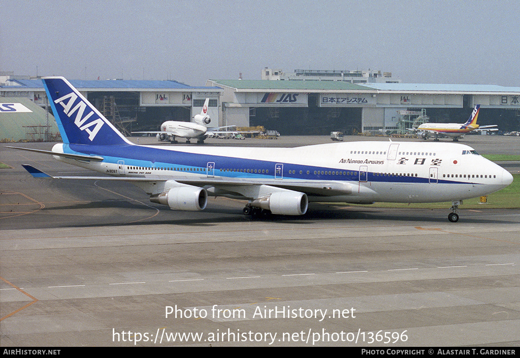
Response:
[{"label": "long dark shadow on tarmac beneath the ANA jet", "polygon": [[[75,205],[56,206],[44,208],[42,211],[53,210],[102,210],[116,209],[117,215],[101,215],[99,217],[88,217],[81,220],[73,220],[71,218],[68,223],[61,222],[59,226],[66,227],[103,227],[103,226],[127,226],[127,225],[179,225],[179,226],[215,226],[222,223],[237,222],[274,222],[274,223],[291,223],[291,224],[314,224],[316,221],[383,221],[383,222],[402,222],[408,224],[411,222],[420,223],[447,223],[445,217],[446,210],[442,209],[386,209],[386,208],[366,208],[366,207],[348,207],[336,208],[329,204],[313,203],[305,215],[302,216],[284,216],[284,215],[268,215],[265,217],[245,216],[240,208],[235,207],[215,207],[209,205],[204,211],[177,211],[171,210],[165,206],[154,206],[153,204],[144,204],[139,201],[125,200],[103,200],[89,203],[79,203]],[[121,211],[119,211],[121,210]],[[128,211],[130,210],[130,211]],[[131,215],[128,215],[132,213]],[[113,213],[112,213],[113,214]],[[149,214],[149,215],[148,215]],[[77,214],[76,214],[77,215]],[[513,221],[497,220],[493,217],[488,218],[487,213],[467,213],[462,215],[460,223],[496,223],[500,221],[503,224],[516,223]],[[453,224],[456,226],[457,224]]]}]

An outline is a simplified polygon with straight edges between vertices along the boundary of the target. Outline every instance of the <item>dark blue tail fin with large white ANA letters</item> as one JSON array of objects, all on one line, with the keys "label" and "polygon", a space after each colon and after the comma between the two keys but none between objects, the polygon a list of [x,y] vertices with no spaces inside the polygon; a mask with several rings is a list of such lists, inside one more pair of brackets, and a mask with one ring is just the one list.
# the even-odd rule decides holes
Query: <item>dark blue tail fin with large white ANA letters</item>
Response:
[{"label": "dark blue tail fin with large white ANA letters", "polygon": [[63,143],[132,144],[63,77],[42,79]]}]

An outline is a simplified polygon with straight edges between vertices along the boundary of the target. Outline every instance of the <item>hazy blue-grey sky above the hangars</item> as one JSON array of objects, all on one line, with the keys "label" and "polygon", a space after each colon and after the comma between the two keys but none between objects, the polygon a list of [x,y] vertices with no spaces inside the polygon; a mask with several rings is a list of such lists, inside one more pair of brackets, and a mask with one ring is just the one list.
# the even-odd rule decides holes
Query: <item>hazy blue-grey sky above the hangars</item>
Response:
[{"label": "hazy blue-grey sky above the hangars", "polygon": [[68,79],[261,79],[380,70],[520,86],[512,0],[2,0],[0,71]]}]

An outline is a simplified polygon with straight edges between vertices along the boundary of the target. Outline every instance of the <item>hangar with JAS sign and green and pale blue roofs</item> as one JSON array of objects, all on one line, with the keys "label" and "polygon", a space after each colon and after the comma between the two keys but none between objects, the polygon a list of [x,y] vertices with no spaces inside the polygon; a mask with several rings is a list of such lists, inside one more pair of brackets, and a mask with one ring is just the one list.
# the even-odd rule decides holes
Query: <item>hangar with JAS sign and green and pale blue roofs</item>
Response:
[{"label": "hangar with JAS sign and green and pale blue roofs", "polygon": [[403,111],[423,109],[430,122],[464,123],[476,104],[480,125],[520,128],[520,87],[244,79],[206,86],[224,90],[223,125],[265,126],[281,135],[396,130]]}]

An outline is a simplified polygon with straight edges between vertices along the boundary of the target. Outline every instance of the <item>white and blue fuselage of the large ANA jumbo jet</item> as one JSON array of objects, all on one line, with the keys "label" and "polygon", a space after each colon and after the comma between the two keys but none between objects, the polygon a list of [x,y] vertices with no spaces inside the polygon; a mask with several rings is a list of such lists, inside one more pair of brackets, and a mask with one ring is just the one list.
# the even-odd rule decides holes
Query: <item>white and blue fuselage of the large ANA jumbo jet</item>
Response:
[{"label": "white and blue fuselage of the large ANA jumbo jet", "polygon": [[[63,151],[61,145],[53,150]],[[112,156],[89,154],[102,154],[105,161],[60,160],[112,176],[200,183],[214,195],[246,198],[250,195],[243,186],[269,185],[305,192],[309,201],[444,202],[486,195],[512,182],[508,171],[471,147],[455,143],[371,141],[298,148],[132,145]],[[164,189],[147,185],[139,186],[151,194]],[[308,185],[311,189],[306,190]]]}]

